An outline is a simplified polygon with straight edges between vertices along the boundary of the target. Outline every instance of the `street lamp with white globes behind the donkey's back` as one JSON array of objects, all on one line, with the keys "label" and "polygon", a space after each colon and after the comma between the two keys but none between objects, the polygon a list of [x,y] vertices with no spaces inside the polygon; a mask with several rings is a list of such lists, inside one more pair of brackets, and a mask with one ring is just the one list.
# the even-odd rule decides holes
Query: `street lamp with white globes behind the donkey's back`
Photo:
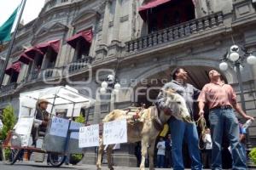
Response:
[{"label": "street lamp with white globes behind the donkey's back", "polygon": [[113,75],[108,75],[107,79],[102,82],[102,88],[100,88],[101,94],[109,94],[109,103],[108,103],[108,112],[110,112],[110,106],[112,101],[112,94],[113,92],[117,94],[119,92],[119,89],[121,88],[121,85],[119,82],[117,82],[116,77]]}]

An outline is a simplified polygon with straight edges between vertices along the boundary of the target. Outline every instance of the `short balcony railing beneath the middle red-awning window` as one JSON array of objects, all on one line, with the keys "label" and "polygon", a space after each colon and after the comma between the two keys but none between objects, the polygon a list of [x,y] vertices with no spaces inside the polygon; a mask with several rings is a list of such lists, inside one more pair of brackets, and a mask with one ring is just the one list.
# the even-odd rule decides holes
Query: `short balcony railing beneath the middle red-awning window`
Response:
[{"label": "short balcony railing beneath the middle red-awning window", "polygon": [[76,61],[73,61],[73,63],[71,63],[68,67],[68,72],[69,73],[73,73],[76,71],[80,71],[83,70],[84,68],[86,68],[89,64],[92,63],[92,58],[86,57],[84,59],[78,59]]}]

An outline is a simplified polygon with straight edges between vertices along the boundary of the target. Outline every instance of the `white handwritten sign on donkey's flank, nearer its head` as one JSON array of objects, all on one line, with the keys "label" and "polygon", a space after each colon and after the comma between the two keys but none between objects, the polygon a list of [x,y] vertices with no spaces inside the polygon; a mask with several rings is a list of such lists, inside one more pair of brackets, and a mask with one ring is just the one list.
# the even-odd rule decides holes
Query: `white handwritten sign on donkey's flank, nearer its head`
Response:
[{"label": "white handwritten sign on donkey's flank, nearer its head", "polygon": [[103,144],[127,143],[126,120],[105,122],[103,125]]}]

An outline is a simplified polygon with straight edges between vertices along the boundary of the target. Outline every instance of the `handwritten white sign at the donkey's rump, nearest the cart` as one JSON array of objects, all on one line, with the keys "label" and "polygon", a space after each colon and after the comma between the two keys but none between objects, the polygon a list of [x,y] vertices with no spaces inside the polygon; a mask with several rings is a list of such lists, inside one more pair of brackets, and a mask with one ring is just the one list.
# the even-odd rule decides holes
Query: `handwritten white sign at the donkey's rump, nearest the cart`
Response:
[{"label": "handwritten white sign at the donkey's rump, nearest the cart", "polygon": [[99,125],[80,127],[79,148],[93,147],[99,145]]}]

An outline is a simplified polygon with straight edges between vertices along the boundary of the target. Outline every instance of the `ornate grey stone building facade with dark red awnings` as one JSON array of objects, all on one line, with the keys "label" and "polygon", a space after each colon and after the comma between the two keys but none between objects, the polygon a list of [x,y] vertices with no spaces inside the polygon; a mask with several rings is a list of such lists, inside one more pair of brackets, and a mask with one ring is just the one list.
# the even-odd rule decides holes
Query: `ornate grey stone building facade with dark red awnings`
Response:
[{"label": "ornate grey stone building facade with dark red awnings", "polygon": [[[253,0],[170,0],[150,5],[150,0],[45,1],[38,18],[18,31],[9,59],[11,71],[0,89],[0,107],[11,103],[18,113],[21,92],[70,85],[96,99],[85,112],[89,122],[99,122],[113,108],[134,102],[151,105],[177,66],[189,72],[189,82],[202,88],[209,81],[207,71],[219,70],[220,59],[231,45],[256,51]],[[52,41],[57,41],[57,49]],[[44,53],[37,54],[33,47],[45,49]],[[5,44],[2,63],[7,50]],[[20,71],[13,71],[12,65],[20,60]],[[98,89],[110,73],[122,88],[110,95],[109,102]],[[236,71],[230,67],[222,74],[240,101]],[[247,114],[256,116],[256,65],[245,63],[241,74]],[[253,126],[250,139],[256,143]],[[124,150],[117,155],[131,166],[134,156],[129,147],[124,148],[130,155]]]}]

